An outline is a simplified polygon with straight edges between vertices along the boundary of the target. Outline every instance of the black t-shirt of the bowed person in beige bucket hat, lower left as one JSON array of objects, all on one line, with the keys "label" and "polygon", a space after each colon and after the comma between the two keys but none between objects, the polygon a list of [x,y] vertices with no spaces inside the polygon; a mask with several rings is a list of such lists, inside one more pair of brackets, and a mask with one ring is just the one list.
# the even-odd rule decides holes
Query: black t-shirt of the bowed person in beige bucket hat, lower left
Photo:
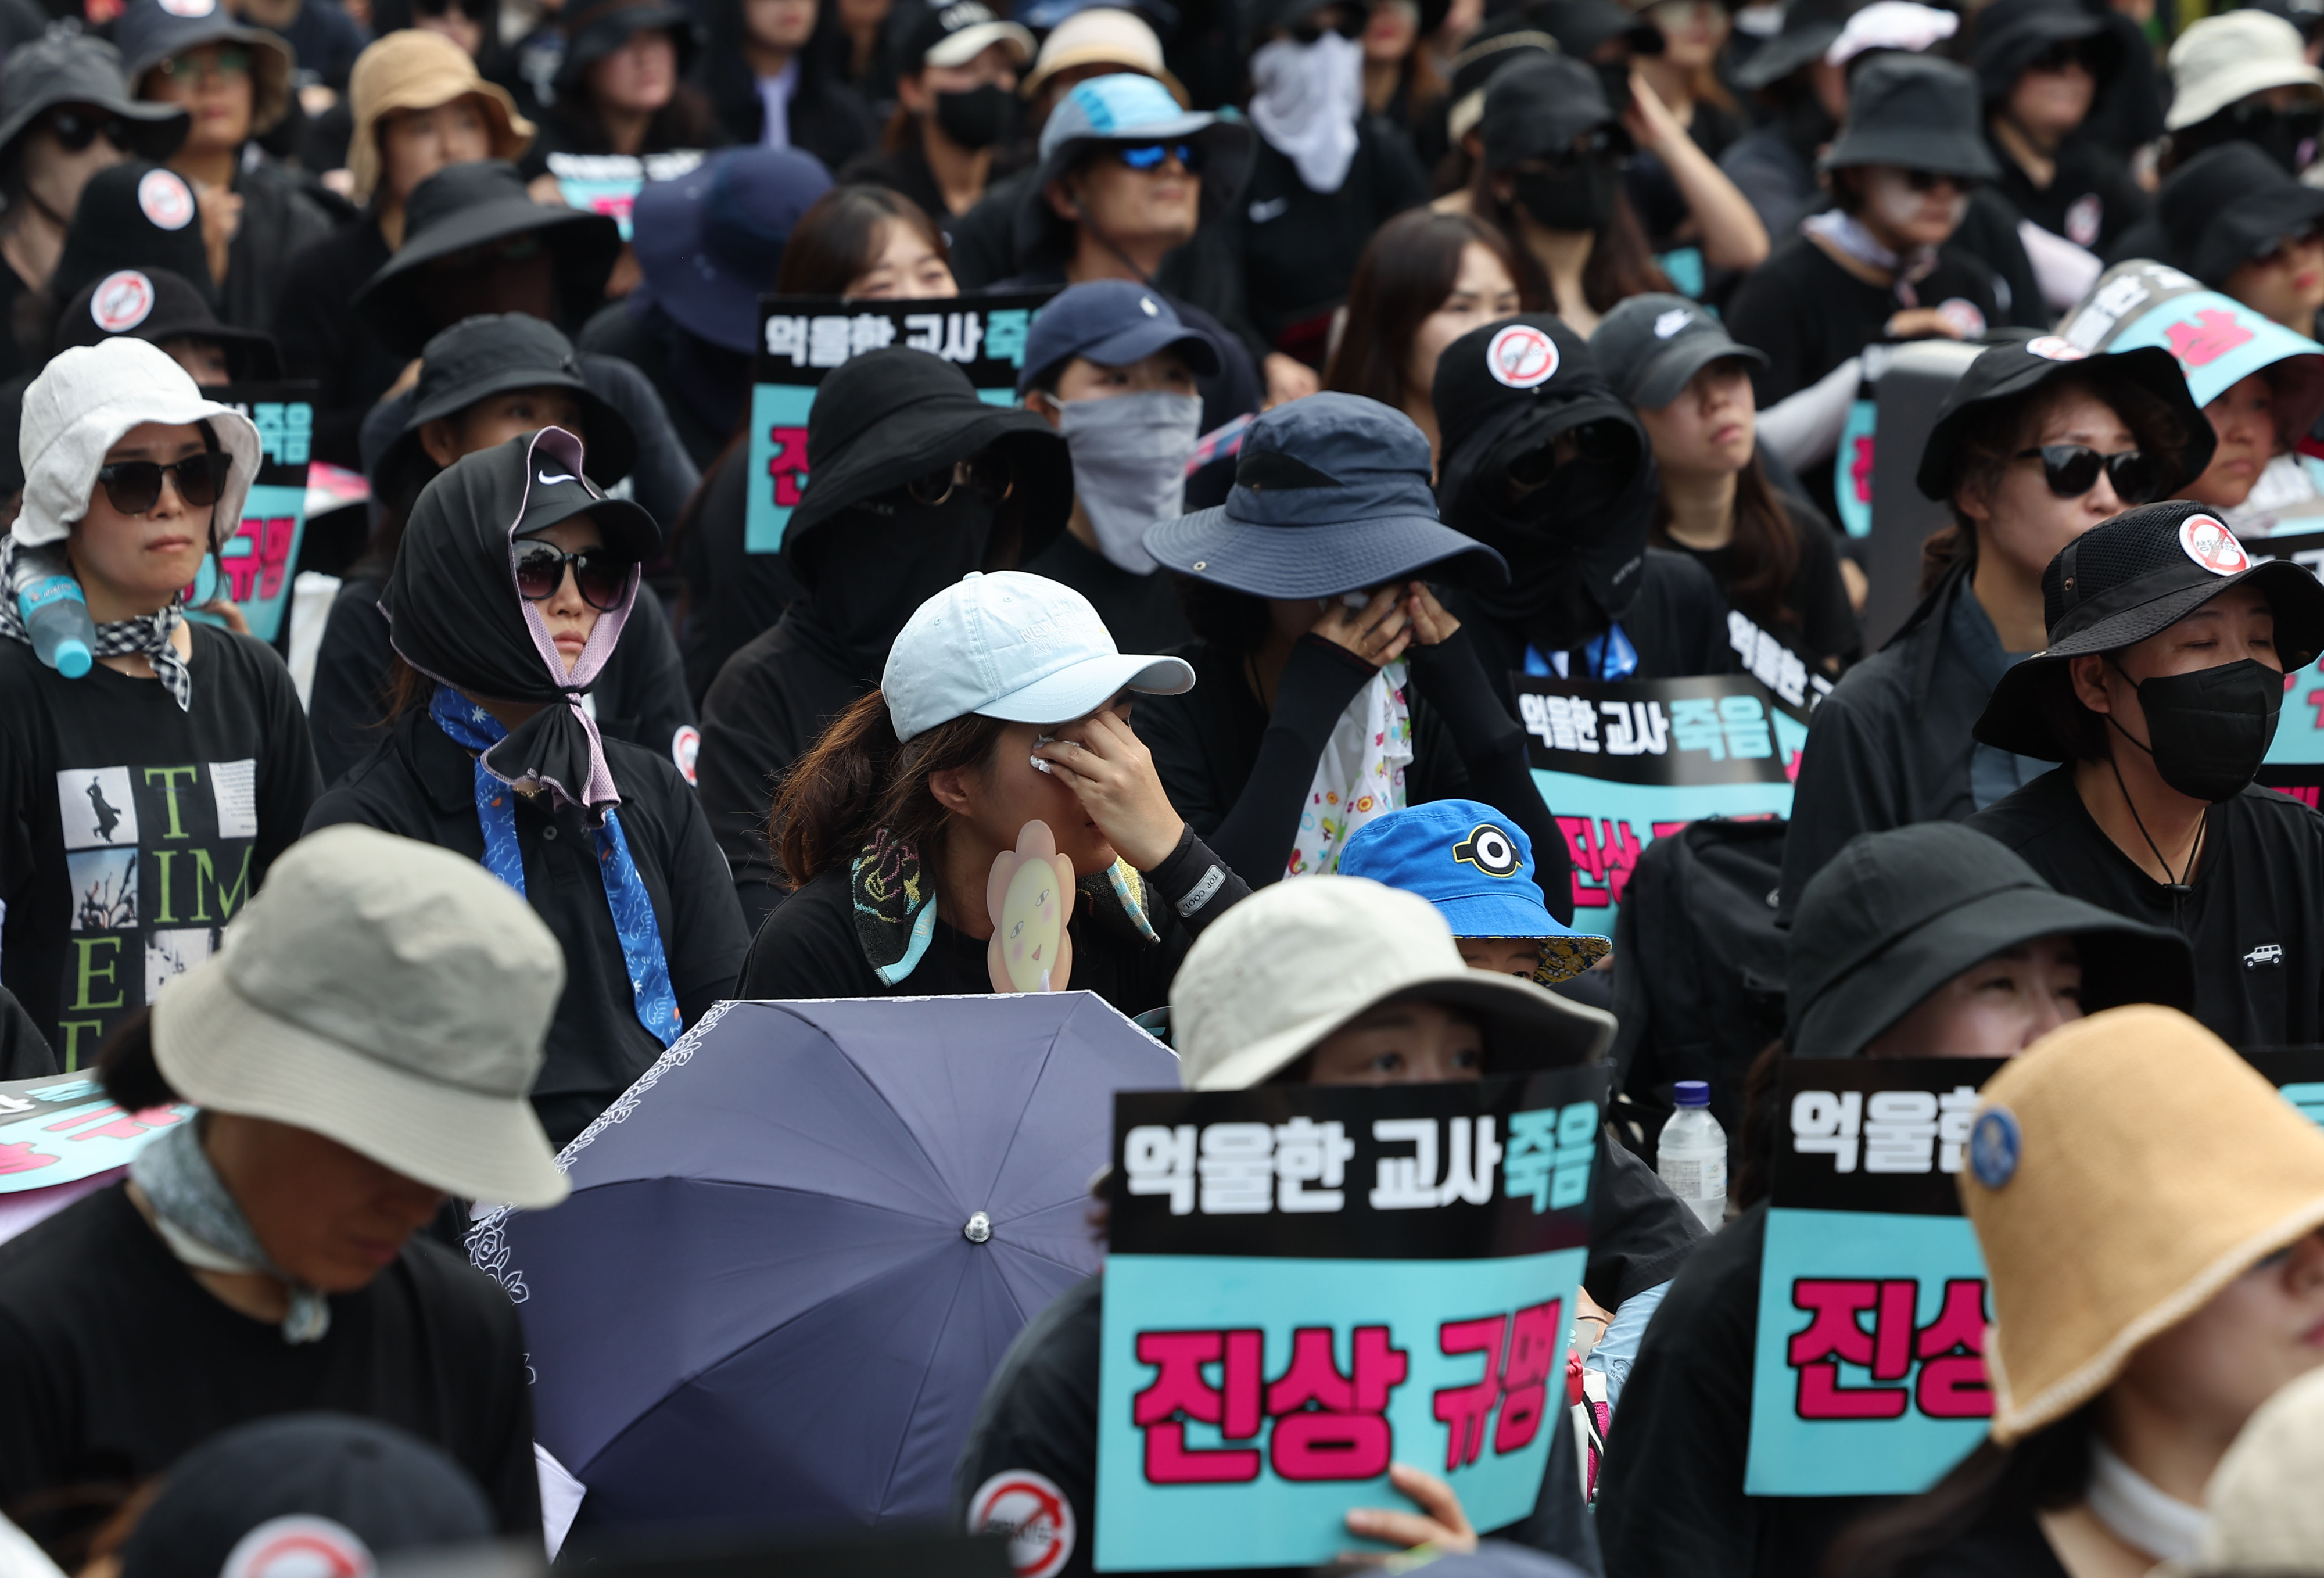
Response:
[{"label": "black t-shirt of the bowed person in beige bucket hat, lower left", "polygon": [[330,1332],[228,1308],[114,1185],[0,1246],[0,1504],[65,1485],[130,1487],[205,1439],[274,1413],[335,1408],[451,1453],[502,1534],[539,1541],[532,1397],[516,1306],[418,1236]]}]

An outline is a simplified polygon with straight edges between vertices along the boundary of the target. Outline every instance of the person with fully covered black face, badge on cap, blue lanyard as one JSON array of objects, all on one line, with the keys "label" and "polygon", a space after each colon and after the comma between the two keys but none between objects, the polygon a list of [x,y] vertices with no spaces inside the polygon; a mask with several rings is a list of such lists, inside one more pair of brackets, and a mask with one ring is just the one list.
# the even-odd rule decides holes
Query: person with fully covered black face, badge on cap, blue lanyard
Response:
[{"label": "person with fully covered black face, badge on cap, blue lanyard", "polygon": [[1648,546],[1655,460],[1645,430],[1564,318],[1504,318],[1446,346],[1436,421],[1448,439],[1436,481],[1446,523],[1508,560],[1506,588],[1457,593],[1452,614],[1476,627],[1485,674],[1511,713],[1513,672],[1678,679],[1734,669],[1727,595],[1685,553]]}]

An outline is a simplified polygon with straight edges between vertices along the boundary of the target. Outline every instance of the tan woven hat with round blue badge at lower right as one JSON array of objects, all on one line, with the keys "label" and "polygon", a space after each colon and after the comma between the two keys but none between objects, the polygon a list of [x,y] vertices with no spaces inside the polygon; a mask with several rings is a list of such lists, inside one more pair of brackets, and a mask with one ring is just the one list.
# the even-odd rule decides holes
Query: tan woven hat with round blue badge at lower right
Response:
[{"label": "tan woven hat with round blue badge at lower right", "polygon": [[2175,1009],[2066,1025],[1982,1095],[1961,1204],[1992,1278],[2001,1446],[2324,1225],[2324,1132]]}]

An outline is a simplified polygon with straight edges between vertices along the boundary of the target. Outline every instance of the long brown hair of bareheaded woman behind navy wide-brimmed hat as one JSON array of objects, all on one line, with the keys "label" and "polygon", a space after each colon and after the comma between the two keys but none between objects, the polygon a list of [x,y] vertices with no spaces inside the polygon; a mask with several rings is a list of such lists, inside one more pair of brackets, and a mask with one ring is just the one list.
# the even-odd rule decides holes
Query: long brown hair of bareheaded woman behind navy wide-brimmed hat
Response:
[{"label": "long brown hair of bareheaded woman behind navy wide-brimmed hat", "polygon": [[[1373,230],[1364,256],[1355,260],[1348,286],[1348,328],[1341,330],[1322,386],[1343,395],[1367,395],[1397,411],[1404,409],[1404,363],[1413,335],[1446,304],[1459,281],[1459,260],[1469,246],[1483,246],[1518,284],[1518,311],[1541,311],[1543,300],[1525,295],[1525,272],[1508,237],[1473,214],[1439,214],[1411,209]],[[1427,390],[1422,390],[1427,393]]]}]

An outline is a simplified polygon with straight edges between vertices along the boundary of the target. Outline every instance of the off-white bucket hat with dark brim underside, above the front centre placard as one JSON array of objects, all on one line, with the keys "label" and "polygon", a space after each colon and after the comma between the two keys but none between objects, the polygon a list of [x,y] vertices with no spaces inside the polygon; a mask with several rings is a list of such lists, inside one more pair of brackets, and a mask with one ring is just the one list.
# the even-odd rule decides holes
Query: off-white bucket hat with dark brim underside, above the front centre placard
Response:
[{"label": "off-white bucket hat with dark brim underside, above the front centre placard", "polygon": [[1494,1074],[1594,1062],[1613,1016],[1532,981],[1469,969],[1436,906],[1362,876],[1260,888],[1204,927],[1169,988],[1188,1090],[1248,1090],[1390,997],[1427,997],[1485,1023]]}]

